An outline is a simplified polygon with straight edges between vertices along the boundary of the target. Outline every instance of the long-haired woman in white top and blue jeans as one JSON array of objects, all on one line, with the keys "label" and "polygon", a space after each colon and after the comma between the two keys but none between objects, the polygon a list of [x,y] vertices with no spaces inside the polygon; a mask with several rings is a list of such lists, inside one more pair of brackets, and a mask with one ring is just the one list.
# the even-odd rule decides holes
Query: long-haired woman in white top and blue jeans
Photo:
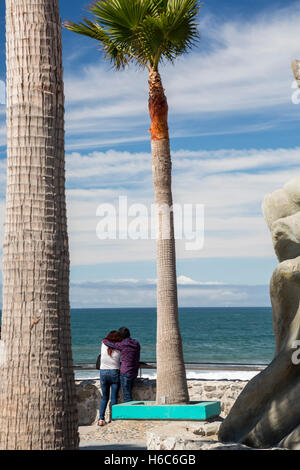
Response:
[{"label": "long-haired woman in white top and blue jeans", "polygon": [[[122,341],[118,331],[111,331],[106,338],[108,341],[118,343]],[[105,425],[105,410],[110,396],[111,406],[118,402],[118,393],[120,388],[120,351],[108,348],[103,344],[101,346],[101,364],[100,364],[100,387],[102,391],[102,400],[100,403],[100,416],[98,426]]]}]

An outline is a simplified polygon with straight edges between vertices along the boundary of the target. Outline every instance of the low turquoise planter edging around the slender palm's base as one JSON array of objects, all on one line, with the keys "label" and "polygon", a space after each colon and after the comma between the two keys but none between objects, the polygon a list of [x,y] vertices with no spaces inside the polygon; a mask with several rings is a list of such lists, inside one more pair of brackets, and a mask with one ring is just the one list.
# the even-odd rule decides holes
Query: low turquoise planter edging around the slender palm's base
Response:
[{"label": "low turquoise planter edging around the slender palm's base", "polygon": [[112,407],[112,419],[206,420],[221,413],[219,401],[191,401],[187,405],[156,405],[153,401],[130,401]]}]

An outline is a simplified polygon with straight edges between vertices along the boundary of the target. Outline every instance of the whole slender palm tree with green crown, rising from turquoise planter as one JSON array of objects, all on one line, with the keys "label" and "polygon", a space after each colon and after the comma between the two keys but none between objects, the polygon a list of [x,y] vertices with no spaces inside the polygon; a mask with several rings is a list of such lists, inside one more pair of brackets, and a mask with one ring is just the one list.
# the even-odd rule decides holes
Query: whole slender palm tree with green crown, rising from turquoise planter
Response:
[{"label": "whole slender palm tree with green crown, rising from turquoise planter", "polygon": [[159,74],[197,42],[199,0],[98,0],[83,18],[66,27],[99,41],[116,69],[135,64],[149,72],[152,168],[158,208],[157,397],[158,403],[187,402],[188,390],[178,324],[176,260],[171,209],[168,104]]}]

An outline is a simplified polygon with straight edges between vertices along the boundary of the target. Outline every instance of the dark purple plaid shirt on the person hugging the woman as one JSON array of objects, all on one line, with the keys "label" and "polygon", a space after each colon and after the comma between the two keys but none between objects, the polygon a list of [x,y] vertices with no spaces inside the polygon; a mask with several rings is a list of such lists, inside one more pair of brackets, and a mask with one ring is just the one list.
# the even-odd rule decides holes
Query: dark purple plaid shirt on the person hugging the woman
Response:
[{"label": "dark purple plaid shirt on the person hugging the woman", "polygon": [[120,343],[111,343],[106,339],[103,340],[105,346],[117,349],[121,352],[121,368],[120,373],[136,378],[139,372],[140,363],[140,343],[132,338],[123,339]]}]

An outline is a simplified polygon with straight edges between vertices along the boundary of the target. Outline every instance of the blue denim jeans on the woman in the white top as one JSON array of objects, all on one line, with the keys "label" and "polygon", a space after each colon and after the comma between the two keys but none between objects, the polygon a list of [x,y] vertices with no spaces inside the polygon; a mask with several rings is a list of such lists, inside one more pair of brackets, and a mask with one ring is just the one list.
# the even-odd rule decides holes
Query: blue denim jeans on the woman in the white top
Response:
[{"label": "blue denim jeans on the woman in the white top", "polygon": [[102,400],[100,403],[99,419],[104,421],[105,410],[109,401],[109,393],[111,406],[116,405],[118,403],[118,392],[120,388],[119,369],[101,369],[100,387],[102,391]]}]

